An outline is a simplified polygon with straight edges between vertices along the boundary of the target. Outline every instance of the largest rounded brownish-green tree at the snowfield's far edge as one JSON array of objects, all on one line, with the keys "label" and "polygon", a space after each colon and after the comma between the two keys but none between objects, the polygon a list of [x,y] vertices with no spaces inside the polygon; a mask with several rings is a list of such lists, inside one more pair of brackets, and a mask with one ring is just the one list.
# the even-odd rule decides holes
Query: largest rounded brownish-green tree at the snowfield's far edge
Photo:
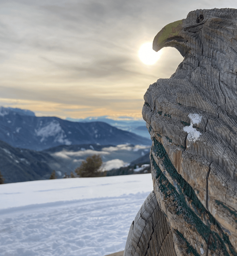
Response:
[{"label": "largest rounded brownish-green tree at the snowfield's far edge", "polygon": [[81,166],[75,169],[75,173],[80,177],[98,177],[100,176],[100,167],[102,165],[100,155],[92,155],[87,157],[86,162],[83,161]]}]

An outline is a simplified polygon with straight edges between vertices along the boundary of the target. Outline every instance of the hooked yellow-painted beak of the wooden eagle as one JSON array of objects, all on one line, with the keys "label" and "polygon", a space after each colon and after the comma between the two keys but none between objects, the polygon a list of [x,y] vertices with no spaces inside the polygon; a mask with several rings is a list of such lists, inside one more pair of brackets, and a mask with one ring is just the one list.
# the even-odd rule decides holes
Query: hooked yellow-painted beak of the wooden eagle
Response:
[{"label": "hooked yellow-painted beak of the wooden eagle", "polygon": [[162,28],[153,40],[153,50],[158,52],[165,46],[176,47],[179,42],[182,23],[182,20],[178,20]]}]

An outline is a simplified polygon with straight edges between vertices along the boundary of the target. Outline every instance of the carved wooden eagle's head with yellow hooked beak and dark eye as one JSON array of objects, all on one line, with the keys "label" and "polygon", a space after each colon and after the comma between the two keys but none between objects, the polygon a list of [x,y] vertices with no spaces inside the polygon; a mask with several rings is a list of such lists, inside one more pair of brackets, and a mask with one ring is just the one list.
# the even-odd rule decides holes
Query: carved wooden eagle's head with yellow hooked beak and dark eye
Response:
[{"label": "carved wooden eagle's head with yellow hooked beak and dark eye", "polygon": [[[183,57],[187,55],[202,55],[206,53],[203,47],[210,50],[206,57],[212,57],[212,49],[227,49],[228,41],[233,46],[233,33],[237,32],[236,9],[212,9],[191,11],[186,19],[166,25],[155,36],[153,50],[156,52],[163,47],[175,47]],[[237,40],[237,37],[234,37]],[[221,45],[220,40],[226,42]]]}]

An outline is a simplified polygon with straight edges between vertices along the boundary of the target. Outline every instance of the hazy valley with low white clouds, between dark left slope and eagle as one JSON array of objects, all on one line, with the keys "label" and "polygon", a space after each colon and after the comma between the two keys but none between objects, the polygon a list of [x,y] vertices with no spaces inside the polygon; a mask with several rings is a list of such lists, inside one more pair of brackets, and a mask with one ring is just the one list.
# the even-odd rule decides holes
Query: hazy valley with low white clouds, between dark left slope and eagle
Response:
[{"label": "hazy valley with low white clouds, between dark left slope and eagle", "polygon": [[[71,171],[81,165],[83,160],[91,155],[100,155],[103,161],[103,169],[111,170],[127,165],[147,153],[149,154],[150,146],[132,144],[120,144],[117,146],[98,144],[61,145],[45,149],[42,152],[50,154],[55,159],[55,163],[50,163],[51,168],[55,171],[61,171],[62,174],[64,172],[70,174]],[[139,163],[142,163],[142,161]]]}]

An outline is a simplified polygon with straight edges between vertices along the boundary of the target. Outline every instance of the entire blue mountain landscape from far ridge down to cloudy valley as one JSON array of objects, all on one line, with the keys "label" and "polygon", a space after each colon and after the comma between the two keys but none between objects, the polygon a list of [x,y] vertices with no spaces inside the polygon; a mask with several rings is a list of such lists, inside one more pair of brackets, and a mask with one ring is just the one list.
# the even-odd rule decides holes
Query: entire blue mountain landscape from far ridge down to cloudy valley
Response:
[{"label": "entire blue mountain landscape from far ridge down to cloudy valley", "polygon": [[53,170],[63,177],[92,154],[101,155],[104,170],[120,168],[148,154],[150,145],[151,140],[104,122],[37,117],[30,110],[0,107],[5,183],[48,179]]}]

